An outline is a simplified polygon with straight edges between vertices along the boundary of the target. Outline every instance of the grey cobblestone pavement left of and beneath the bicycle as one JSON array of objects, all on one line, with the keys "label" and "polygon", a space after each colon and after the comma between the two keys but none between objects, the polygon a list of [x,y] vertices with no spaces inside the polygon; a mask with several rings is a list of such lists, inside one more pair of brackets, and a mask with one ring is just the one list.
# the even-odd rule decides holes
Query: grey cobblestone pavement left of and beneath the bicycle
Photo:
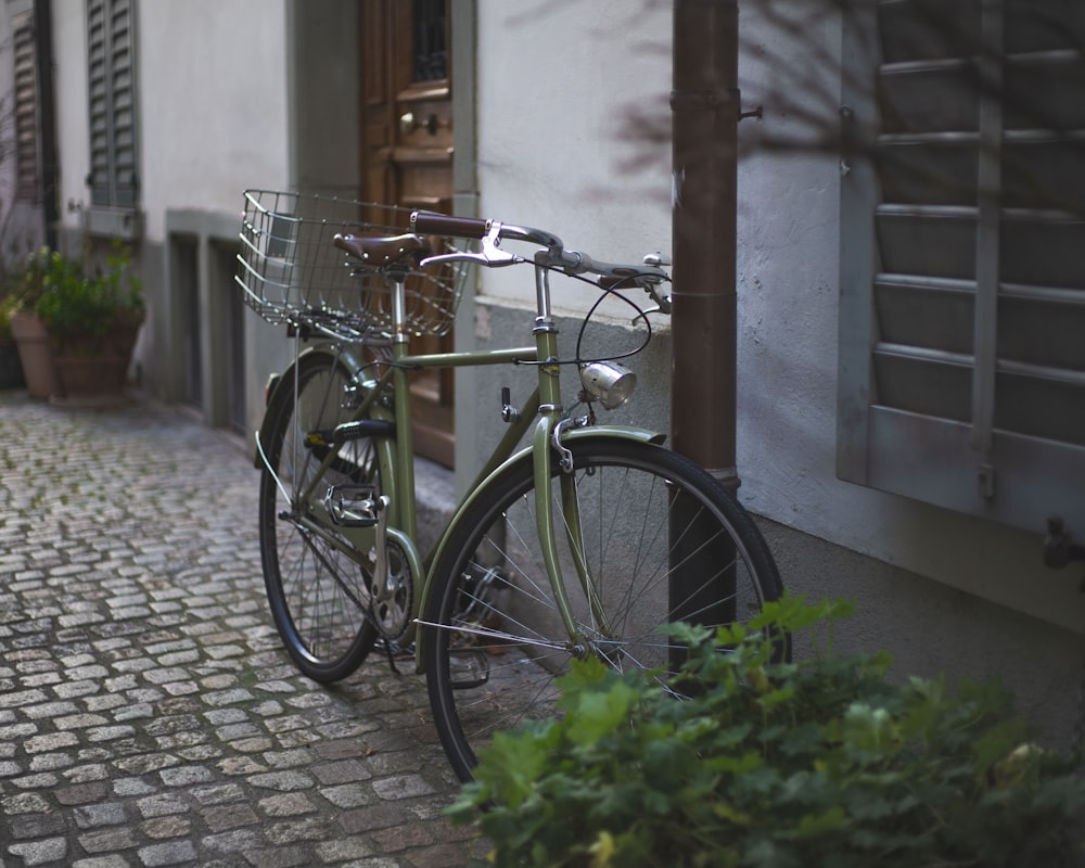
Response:
[{"label": "grey cobblestone pavement left of and beneath the bicycle", "polygon": [[183,412],[0,393],[0,868],[468,864],[424,685],[290,664],[257,474]]}]

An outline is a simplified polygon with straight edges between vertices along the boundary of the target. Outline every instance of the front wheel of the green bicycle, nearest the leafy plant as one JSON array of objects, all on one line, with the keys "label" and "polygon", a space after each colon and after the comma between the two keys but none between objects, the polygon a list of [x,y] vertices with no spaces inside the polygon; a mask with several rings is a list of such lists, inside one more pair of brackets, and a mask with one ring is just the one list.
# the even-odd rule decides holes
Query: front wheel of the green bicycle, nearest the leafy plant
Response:
[{"label": "front wheel of the green bicycle, nearest the leafy plant", "polygon": [[[761,532],[697,464],[660,446],[613,437],[574,442],[570,449],[584,528],[579,548],[610,621],[607,633],[599,628],[603,620],[591,616],[560,529],[558,478],[554,526],[566,593],[591,653],[617,669],[675,671],[681,649],[668,644],[659,625],[745,620],[782,593]],[[554,461],[553,475],[560,473]],[[439,557],[424,616],[434,723],[461,781],[471,780],[477,751],[494,732],[553,713],[553,679],[571,658],[538,551],[529,457],[487,487]],[[688,587],[667,590],[672,579]],[[790,653],[788,642],[779,639],[780,656]]]}]

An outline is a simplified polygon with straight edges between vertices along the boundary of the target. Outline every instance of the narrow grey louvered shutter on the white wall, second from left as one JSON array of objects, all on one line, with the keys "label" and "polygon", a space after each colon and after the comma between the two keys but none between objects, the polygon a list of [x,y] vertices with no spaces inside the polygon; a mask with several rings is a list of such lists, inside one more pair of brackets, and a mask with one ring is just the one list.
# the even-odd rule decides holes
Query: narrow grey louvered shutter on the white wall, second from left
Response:
[{"label": "narrow grey louvered shutter on the white wall, second from left", "polygon": [[92,207],[139,202],[135,43],[131,0],[87,0]]}]

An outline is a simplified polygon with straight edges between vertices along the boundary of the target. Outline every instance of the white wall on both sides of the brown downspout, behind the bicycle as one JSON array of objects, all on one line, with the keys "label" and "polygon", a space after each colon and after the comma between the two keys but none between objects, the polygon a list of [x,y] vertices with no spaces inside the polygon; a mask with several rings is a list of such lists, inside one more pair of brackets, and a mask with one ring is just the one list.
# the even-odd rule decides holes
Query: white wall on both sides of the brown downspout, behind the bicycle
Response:
[{"label": "white wall on both sides of the brown downspout, behind the bicycle", "polygon": [[[782,25],[762,14],[769,8],[740,5],[743,103],[765,112],[740,128],[740,496],[791,527],[1080,631],[1085,601],[1069,572],[1043,566],[1037,534],[835,477],[840,164],[757,145],[808,132],[810,110],[835,124],[842,28],[835,14],[809,14],[812,4]],[[600,258],[666,250],[668,148],[649,148],[654,162],[626,170],[634,149],[622,122],[630,104],[668,112],[672,13],[671,3],[628,0],[529,12],[481,0],[483,216],[553,229]],[[809,97],[788,104],[799,92]],[[515,269],[484,276],[492,298],[527,301],[529,289]],[[832,576],[802,584],[833,590]]]}]

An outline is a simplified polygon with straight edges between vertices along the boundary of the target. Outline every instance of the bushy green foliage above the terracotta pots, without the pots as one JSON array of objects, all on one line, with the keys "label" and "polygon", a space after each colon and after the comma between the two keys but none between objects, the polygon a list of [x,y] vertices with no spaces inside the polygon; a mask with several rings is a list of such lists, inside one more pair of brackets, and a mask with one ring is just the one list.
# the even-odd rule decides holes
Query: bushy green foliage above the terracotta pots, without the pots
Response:
[{"label": "bushy green foliage above the terracotta pots, without the pots", "polygon": [[115,244],[105,268],[87,275],[78,260],[42,250],[23,280],[37,295],[35,310],[59,342],[101,337],[120,327],[138,326],[145,310],[142,285],[127,248]]}]

